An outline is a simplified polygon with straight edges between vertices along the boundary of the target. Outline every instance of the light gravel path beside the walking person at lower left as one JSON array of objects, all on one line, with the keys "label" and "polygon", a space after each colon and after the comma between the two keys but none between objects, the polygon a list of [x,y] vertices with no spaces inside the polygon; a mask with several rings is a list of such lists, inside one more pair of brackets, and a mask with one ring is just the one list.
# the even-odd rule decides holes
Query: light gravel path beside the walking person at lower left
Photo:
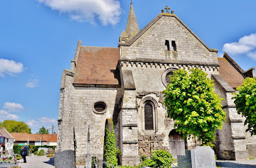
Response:
[{"label": "light gravel path beside the walking person at lower left", "polygon": [[18,166],[21,168],[54,168],[54,157],[27,156],[26,161],[23,163],[23,159],[20,159]]}]

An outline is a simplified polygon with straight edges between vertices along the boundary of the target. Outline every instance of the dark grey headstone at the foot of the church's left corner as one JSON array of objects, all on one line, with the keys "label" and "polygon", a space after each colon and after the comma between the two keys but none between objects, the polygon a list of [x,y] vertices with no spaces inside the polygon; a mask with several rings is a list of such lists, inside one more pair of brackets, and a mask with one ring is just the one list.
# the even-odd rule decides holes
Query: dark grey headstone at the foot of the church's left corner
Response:
[{"label": "dark grey headstone at the foot of the church's left corner", "polygon": [[56,152],[55,168],[75,168],[75,153],[72,150]]}]

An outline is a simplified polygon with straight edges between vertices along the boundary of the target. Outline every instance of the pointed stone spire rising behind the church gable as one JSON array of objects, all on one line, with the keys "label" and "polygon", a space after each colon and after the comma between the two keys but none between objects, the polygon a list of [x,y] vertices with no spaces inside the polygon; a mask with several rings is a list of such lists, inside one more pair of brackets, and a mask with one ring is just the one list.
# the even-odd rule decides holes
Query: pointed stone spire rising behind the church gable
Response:
[{"label": "pointed stone spire rising behind the church gable", "polygon": [[132,6],[132,1],[125,32],[127,33],[130,39],[139,32],[139,25],[137,23],[135,12]]}]

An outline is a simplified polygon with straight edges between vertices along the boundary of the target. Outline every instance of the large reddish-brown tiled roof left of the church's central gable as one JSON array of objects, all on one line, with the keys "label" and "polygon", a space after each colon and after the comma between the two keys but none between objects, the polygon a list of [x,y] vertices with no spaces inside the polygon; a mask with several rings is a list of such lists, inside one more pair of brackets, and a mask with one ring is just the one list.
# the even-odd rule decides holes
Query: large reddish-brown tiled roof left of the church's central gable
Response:
[{"label": "large reddish-brown tiled roof left of the church's central gable", "polygon": [[81,46],[73,84],[119,85],[119,47]]}]

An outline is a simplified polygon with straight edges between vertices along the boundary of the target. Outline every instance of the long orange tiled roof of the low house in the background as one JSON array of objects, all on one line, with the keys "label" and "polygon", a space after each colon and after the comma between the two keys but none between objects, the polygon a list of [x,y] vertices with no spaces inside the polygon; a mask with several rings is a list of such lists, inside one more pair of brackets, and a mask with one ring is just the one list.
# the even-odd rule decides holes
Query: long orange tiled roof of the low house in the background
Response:
[{"label": "long orange tiled roof of the low house in the background", "polygon": [[24,132],[13,132],[10,133],[14,137],[15,141],[49,141],[52,134],[27,134]]}]

